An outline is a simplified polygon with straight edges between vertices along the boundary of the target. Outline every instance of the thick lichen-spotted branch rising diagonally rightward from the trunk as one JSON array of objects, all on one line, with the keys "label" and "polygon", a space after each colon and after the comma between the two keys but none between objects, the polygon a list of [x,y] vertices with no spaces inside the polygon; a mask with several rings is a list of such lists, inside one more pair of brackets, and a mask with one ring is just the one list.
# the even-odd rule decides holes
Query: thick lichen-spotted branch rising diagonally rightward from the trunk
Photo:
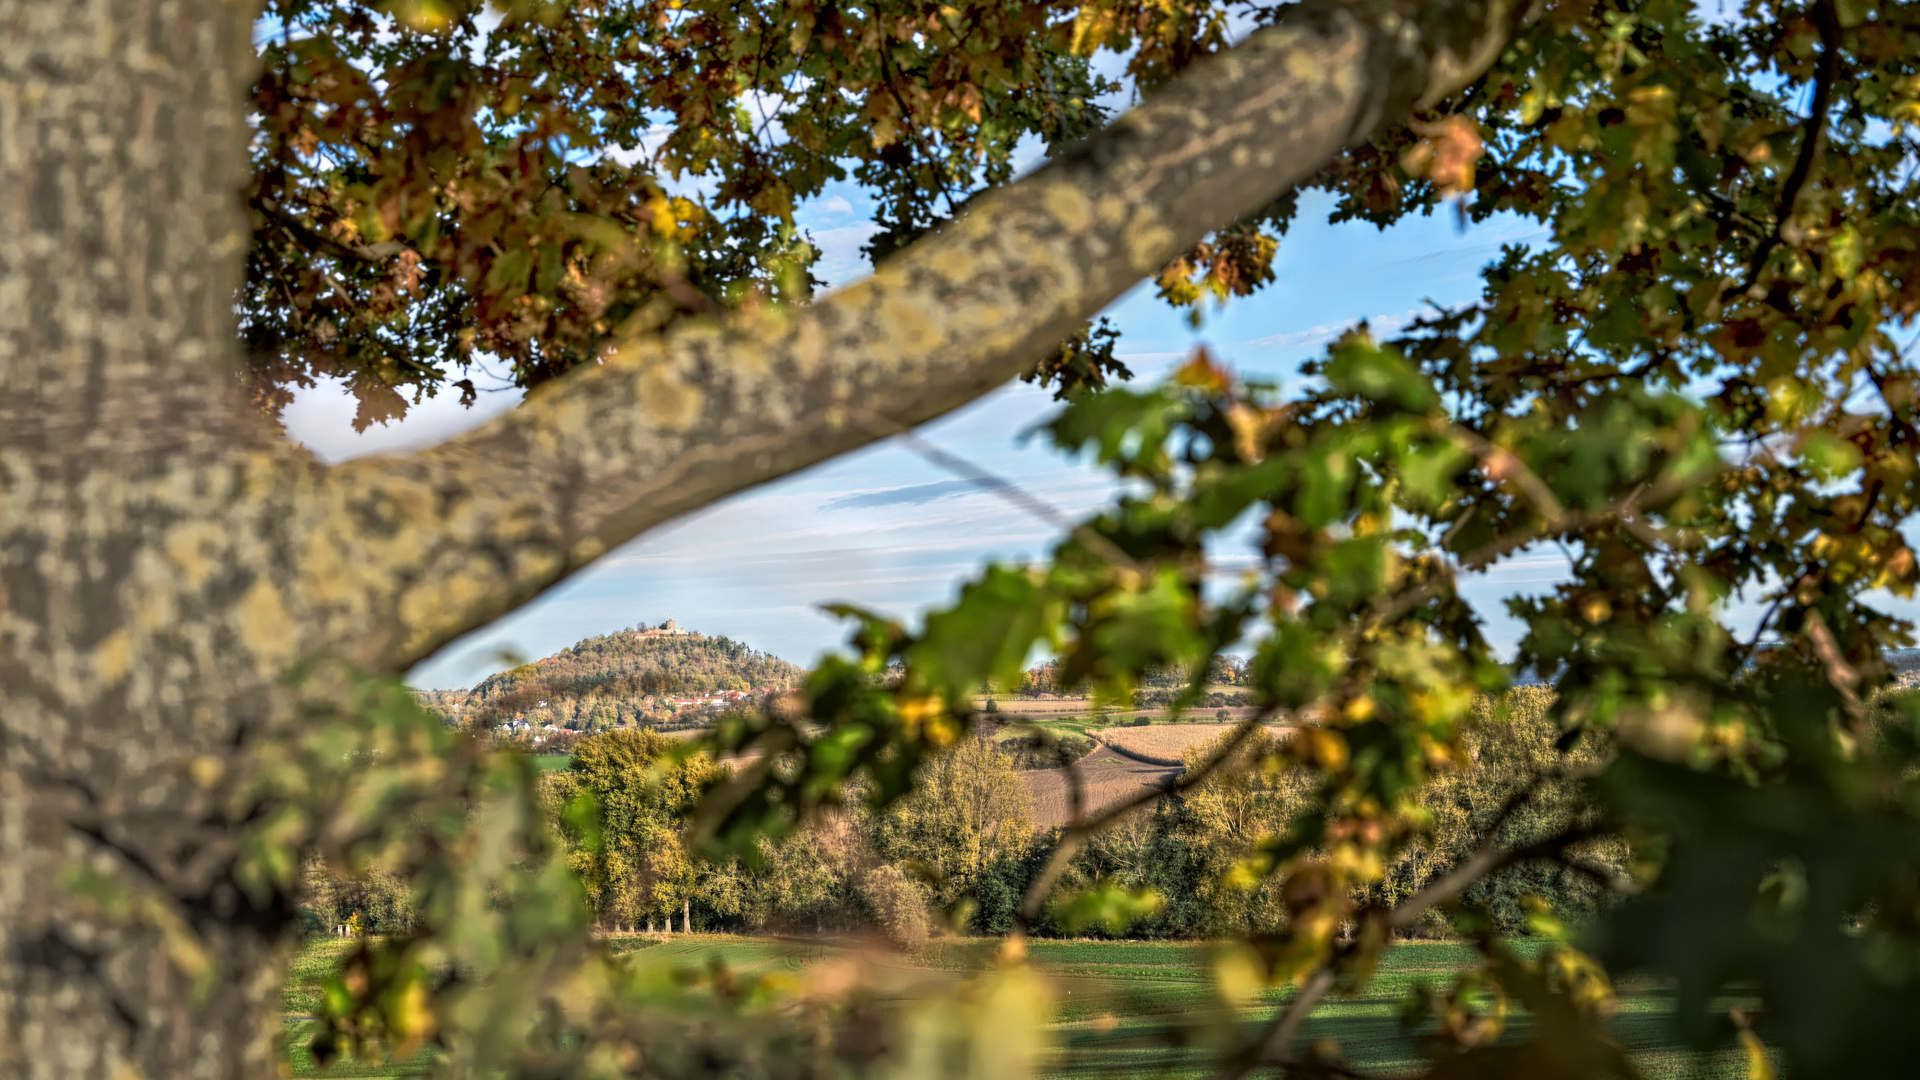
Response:
[{"label": "thick lichen-spotted branch rising diagonally rightward from the trunk", "polygon": [[442,448],[307,500],[323,640],[405,667],[614,544],[1016,377],[1210,231],[1484,71],[1509,0],[1311,4],[874,277],[611,350]]}]

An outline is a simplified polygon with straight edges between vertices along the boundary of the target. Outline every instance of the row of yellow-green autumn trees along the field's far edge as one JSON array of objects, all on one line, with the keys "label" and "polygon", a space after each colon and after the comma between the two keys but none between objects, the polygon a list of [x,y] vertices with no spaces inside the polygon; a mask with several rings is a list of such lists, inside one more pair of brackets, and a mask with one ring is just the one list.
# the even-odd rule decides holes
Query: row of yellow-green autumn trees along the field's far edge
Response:
[{"label": "row of yellow-green autumn trees along the field's far edge", "polygon": [[[1384,869],[1373,897],[1396,903],[1473,853],[1519,792],[1534,796],[1500,822],[1500,840],[1524,846],[1590,813],[1571,780],[1538,782],[1597,753],[1555,749],[1549,692],[1515,690],[1482,701],[1465,736],[1465,759],[1421,794],[1427,830]],[[1269,749],[1256,734],[1244,753]],[[707,757],[682,763],[674,740],[651,730],[582,738],[572,767],[541,778],[543,811],[563,836],[568,861],[599,915],[620,928],[695,930],[856,930],[877,928],[912,944],[935,930],[1004,934],[1020,901],[1058,844],[1058,830],[1035,832],[1033,805],[1016,753],[977,738],[929,763],[916,792],[885,811],[851,792],[847,807],[781,844],[762,842],[755,863],[707,863],[685,844],[687,813],[722,776]],[[1188,763],[1212,748],[1194,748]],[[1139,938],[1217,938],[1277,930],[1284,920],[1275,886],[1246,884],[1236,869],[1258,865],[1263,844],[1284,836],[1315,809],[1315,790],[1296,771],[1225,771],[1164,799],[1092,838],[1073,859],[1062,892],[1108,884],[1152,892],[1158,909],[1137,920]],[[582,807],[591,807],[582,817]],[[1521,863],[1475,886],[1469,903],[1486,907],[1503,930],[1524,926],[1521,899],[1549,901],[1567,917],[1603,901],[1599,878],[1622,869],[1624,846],[1594,840],[1586,871]],[[355,882],[309,874],[315,924],[359,913],[372,932],[405,932],[411,913],[403,884],[378,871]],[[1442,932],[1440,915],[1421,932]],[[1064,924],[1054,913],[1037,934],[1098,932]]]}]

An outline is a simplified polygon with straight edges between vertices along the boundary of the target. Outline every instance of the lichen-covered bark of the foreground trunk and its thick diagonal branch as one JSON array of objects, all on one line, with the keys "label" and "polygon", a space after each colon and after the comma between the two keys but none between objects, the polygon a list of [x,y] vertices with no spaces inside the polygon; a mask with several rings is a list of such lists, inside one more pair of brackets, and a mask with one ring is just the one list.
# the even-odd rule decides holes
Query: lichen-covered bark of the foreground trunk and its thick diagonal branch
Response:
[{"label": "lichen-covered bark of the foreground trunk and its thick diagonal branch", "polygon": [[323,469],[234,404],[248,4],[0,0],[0,1074],[257,1076],[288,897],[223,792],[290,665],[397,671],[649,525],[952,409],[1379,117],[1476,2],[1256,35],[801,311]]}]

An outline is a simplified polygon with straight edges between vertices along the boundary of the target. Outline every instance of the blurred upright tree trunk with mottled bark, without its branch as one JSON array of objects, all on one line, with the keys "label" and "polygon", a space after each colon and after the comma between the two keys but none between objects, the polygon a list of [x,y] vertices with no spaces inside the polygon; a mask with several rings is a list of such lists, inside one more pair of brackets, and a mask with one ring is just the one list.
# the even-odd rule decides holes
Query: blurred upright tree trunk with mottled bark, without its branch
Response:
[{"label": "blurred upright tree trunk with mottled bark, without its branch", "polygon": [[6,1076],[275,1072],[292,909],[213,798],[290,636],[232,367],[252,13],[0,0]]}]

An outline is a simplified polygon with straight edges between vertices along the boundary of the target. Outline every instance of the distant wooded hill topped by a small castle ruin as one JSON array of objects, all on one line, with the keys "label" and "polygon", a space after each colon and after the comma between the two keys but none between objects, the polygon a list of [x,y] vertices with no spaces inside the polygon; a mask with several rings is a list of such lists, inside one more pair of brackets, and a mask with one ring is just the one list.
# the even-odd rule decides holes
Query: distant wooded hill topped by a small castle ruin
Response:
[{"label": "distant wooded hill topped by a small castle ruin", "polygon": [[428,690],[420,700],[455,721],[607,730],[687,723],[804,680],[806,669],[772,653],[666,623],[588,638],[472,690]]}]

